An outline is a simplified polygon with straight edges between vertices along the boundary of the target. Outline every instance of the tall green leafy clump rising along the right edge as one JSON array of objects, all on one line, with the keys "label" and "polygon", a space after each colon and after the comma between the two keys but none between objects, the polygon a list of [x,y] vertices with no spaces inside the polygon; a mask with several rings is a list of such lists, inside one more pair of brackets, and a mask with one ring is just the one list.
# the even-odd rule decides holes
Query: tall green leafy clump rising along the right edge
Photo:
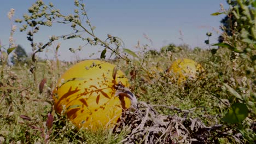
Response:
[{"label": "tall green leafy clump rising along the right edge", "polygon": [[[226,14],[221,21],[223,34],[220,42],[214,44],[231,50],[232,75],[230,85],[223,86],[223,91],[230,94],[231,107],[223,121],[234,124],[247,142],[255,142],[256,135],[252,133],[253,121],[255,121],[256,101],[255,80],[253,74],[256,70],[256,3],[255,1],[227,1],[230,8],[222,13]],[[249,114],[250,113],[250,114]],[[245,121],[250,121],[251,124]],[[251,130],[249,130],[251,129]]]}]

